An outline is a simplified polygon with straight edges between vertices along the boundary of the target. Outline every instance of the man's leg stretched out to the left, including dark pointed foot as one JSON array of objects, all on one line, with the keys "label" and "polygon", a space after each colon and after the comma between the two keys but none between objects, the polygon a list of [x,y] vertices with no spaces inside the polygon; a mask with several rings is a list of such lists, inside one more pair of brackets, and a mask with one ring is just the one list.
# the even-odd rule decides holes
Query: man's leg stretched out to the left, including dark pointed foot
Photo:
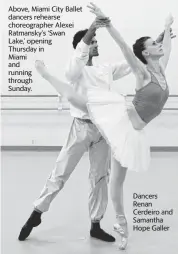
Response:
[{"label": "man's leg stretched out to the left, including dark pointed foot", "polygon": [[41,214],[48,211],[52,200],[63,188],[84,152],[88,150],[89,142],[85,125],[75,118],[68,140],[57,158],[54,170],[47,179],[39,198],[34,202],[34,211],[20,232],[20,241],[24,241],[33,227],[41,223]]}]

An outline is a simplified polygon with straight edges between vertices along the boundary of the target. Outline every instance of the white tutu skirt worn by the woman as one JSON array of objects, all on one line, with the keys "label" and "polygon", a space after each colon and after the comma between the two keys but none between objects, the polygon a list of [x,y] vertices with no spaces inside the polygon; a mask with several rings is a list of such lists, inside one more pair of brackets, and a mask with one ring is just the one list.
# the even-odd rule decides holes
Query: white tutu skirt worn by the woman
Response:
[{"label": "white tutu skirt worn by the woman", "polygon": [[145,131],[133,128],[125,97],[101,88],[89,89],[87,97],[91,120],[111,147],[114,158],[128,170],[146,171],[150,147]]}]

